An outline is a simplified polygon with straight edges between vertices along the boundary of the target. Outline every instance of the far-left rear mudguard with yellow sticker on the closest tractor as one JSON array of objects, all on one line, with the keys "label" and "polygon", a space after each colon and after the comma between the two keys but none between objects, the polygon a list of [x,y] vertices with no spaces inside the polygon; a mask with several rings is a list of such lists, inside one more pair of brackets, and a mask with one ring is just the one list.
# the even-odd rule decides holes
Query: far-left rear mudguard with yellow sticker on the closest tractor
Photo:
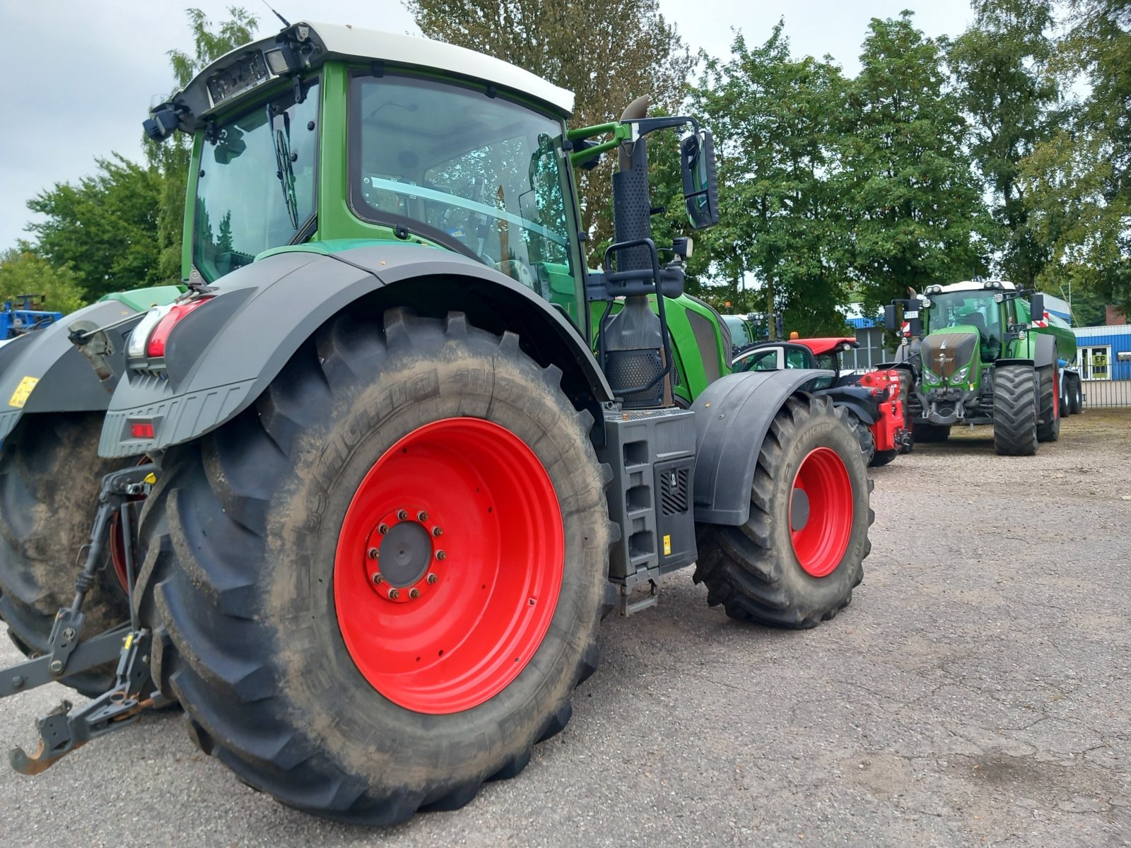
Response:
[{"label": "far-left rear mudguard with yellow sticker on the closest tractor", "polygon": [[[89,361],[67,338],[67,328],[79,319],[104,327],[140,314],[120,301],[95,303],[0,347],[0,439],[25,414],[106,409],[110,392]],[[109,361],[115,374],[124,371],[126,338],[131,327],[132,322],[110,332],[114,354]]]}]

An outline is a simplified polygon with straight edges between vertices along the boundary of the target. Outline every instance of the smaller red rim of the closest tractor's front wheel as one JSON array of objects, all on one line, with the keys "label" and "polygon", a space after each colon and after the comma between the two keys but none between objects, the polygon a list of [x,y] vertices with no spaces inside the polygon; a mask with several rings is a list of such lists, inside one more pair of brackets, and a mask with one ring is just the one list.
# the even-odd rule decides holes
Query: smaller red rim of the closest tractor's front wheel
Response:
[{"label": "smaller red rim of the closest tractor's front wheel", "polygon": [[802,460],[789,496],[793,553],[806,574],[826,577],[848,550],[852,482],[840,455],[815,448]]}]

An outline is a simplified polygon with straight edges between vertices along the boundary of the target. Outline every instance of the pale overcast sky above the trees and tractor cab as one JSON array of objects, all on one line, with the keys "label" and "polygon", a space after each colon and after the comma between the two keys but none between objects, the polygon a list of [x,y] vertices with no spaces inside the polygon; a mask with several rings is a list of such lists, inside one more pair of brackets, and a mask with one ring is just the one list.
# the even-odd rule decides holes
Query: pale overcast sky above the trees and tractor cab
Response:
[{"label": "pale overcast sky above the trees and tractor cab", "polygon": [[[452,0],[458,2],[458,0]],[[191,51],[184,9],[214,20],[235,0],[0,0],[8,33],[0,51],[0,250],[24,237],[28,198],[55,182],[94,171],[112,152],[141,158],[141,121],[172,87],[166,51]],[[278,21],[262,0],[245,0],[261,35]],[[276,0],[288,20],[353,24],[418,35],[399,0]],[[659,0],[684,41],[713,55],[729,50],[733,31],[765,41],[779,17],[795,55],[830,54],[849,75],[873,17],[915,11],[927,35],[957,35],[970,19],[968,0]]]}]

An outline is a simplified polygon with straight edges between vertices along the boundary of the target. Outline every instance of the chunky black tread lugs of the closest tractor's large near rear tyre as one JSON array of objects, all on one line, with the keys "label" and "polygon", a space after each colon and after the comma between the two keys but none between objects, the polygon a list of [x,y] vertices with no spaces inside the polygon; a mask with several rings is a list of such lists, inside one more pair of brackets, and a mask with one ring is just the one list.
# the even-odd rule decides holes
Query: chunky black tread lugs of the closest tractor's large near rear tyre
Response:
[{"label": "chunky black tread lugs of the closest tractor's large near rear tyre", "polygon": [[[339,317],[316,334],[239,422],[170,451],[173,470],[162,477],[141,517],[152,555],[141,570],[137,603],[143,622],[166,637],[155,677],[162,691],[185,708],[191,737],[249,786],[297,810],[353,824],[390,825],[418,811],[458,808],[484,781],[517,776],[532,755],[527,745],[476,779],[428,790],[371,790],[285,715],[284,673],[270,649],[273,625],[253,606],[251,589],[268,555],[271,481],[294,465],[307,427],[325,431],[326,410],[340,406],[360,390],[360,380],[385,363],[413,355],[422,334],[432,334],[430,345],[474,335],[478,349],[494,339],[497,356],[513,356],[519,349],[515,334],[492,336],[470,327],[459,313],[440,321],[390,309],[383,327]],[[556,366],[542,371],[552,390],[562,391],[561,379]],[[465,414],[482,412],[469,408]],[[592,414],[579,412],[576,421],[587,434]],[[562,508],[581,509],[566,502]],[[585,535],[579,555],[587,562],[607,562],[610,527],[606,521]],[[570,691],[597,668],[596,620],[587,639]],[[560,733],[571,715],[567,696],[534,742]]]}]

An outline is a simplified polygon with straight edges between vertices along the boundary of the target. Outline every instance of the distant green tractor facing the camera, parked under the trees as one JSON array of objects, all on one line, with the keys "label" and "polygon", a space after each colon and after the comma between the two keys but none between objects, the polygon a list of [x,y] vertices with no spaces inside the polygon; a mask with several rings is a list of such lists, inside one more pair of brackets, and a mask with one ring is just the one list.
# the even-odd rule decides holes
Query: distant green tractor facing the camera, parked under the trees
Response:
[{"label": "distant green tractor facing the camera, parked under the trees", "polygon": [[881,367],[905,375],[916,442],[991,424],[999,455],[1033,456],[1039,442],[1059,438],[1061,416],[1080,397],[1079,375],[1067,367],[1076,336],[1044,301],[1012,283],[976,278],[886,308],[900,347]]}]

